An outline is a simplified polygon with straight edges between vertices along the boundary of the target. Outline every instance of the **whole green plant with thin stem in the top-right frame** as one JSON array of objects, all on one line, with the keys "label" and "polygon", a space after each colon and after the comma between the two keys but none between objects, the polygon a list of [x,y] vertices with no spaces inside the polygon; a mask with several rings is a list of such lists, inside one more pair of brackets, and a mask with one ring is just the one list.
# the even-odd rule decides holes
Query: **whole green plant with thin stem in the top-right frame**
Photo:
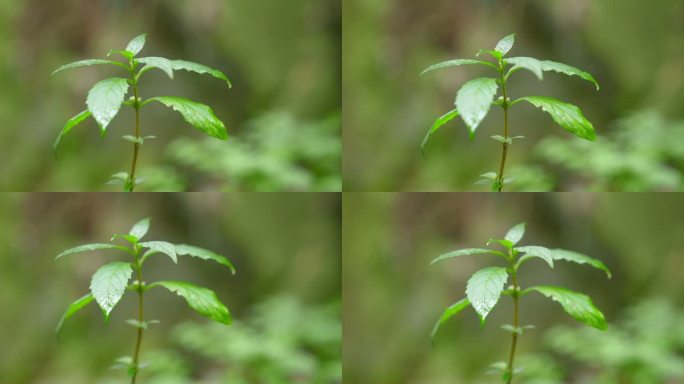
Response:
[{"label": "whole green plant with thin stem in the top-right frame", "polygon": [[[456,95],[456,108],[439,117],[434,122],[432,127],[430,127],[425,135],[425,138],[423,139],[423,142],[421,143],[421,149],[424,151],[425,146],[430,140],[430,136],[432,136],[432,134],[439,130],[439,128],[458,115],[461,116],[463,122],[465,122],[466,126],[468,127],[470,139],[473,140],[475,137],[475,130],[480,125],[482,120],[487,116],[491,105],[500,106],[504,112],[503,136],[491,136],[492,139],[501,143],[502,145],[499,172],[485,173],[481,176],[481,180],[478,181],[479,184],[491,184],[492,190],[497,192],[501,192],[504,185],[513,180],[510,177],[504,177],[508,147],[513,144],[513,140],[522,139],[523,136],[510,135],[508,110],[510,107],[520,103],[521,101],[526,101],[537,108],[541,108],[543,111],[550,114],[553,121],[555,121],[566,131],[586,140],[594,141],[596,139],[594,127],[592,126],[591,122],[584,117],[582,111],[578,107],[572,104],[568,104],[566,102],[546,96],[526,96],[511,101],[507,89],[507,82],[509,77],[519,69],[527,69],[531,71],[539,80],[543,79],[543,74],[545,71],[559,72],[569,76],[576,75],[584,80],[594,83],[594,85],[596,85],[596,89],[599,89],[598,83],[589,73],[571,67],[567,64],[557,63],[549,60],[537,60],[532,57],[504,58],[511,48],[513,48],[514,41],[515,34],[510,34],[501,39],[501,41],[496,44],[496,47],[493,50],[482,49],[477,53],[477,57],[484,53],[489,54],[494,58],[495,63],[482,60],[455,59],[435,64],[421,73],[421,75],[423,75],[435,69],[466,64],[484,65],[494,69],[497,72],[496,78],[478,77],[463,84]],[[501,96],[496,98],[499,88],[501,88]]]}]

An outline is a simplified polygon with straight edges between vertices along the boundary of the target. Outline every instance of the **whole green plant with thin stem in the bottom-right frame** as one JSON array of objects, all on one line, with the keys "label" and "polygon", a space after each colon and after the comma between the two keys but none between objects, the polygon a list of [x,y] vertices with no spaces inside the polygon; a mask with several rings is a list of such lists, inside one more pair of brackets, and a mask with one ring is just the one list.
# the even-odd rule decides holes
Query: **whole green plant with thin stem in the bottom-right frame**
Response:
[{"label": "whole green plant with thin stem in the bottom-right frame", "polygon": [[[487,267],[475,272],[470,277],[466,286],[467,297],[449,306],[444,311],[439,321],[437,321],[437,324],[435,324],[431,337],[434,340],[439,327],[468,306],[472,306],[473,309],[475,309],[475,312],[477,312],[480,318],[480,324],[484,327],[487,315],[497,304],[501,295],[510,296],[513,299],[513,324],[506,324],[501,328],[510,332],[512,335],[511,350],[507,362],[498,362],[492,365],[493,369],[502,372],[502,379],[508,384],[513,380],[513,376],[519,372],[518,369],[514,368],[518,336],[522,336],[525,330],[533,328],[533,326],[530,325],[520,325],[519,302],[520,298],[528,293],[541,293],[542,295],[557,301],[565,312],[576,320],[600,330],[607,329],[605,317],[601,311],[594,306],[589,296],[555,286],[533,286],[522,289],[520,282],[518,281],[518,271],[526,261],[532,258],[544,260],[551,268],[554,266],[554,261],[558,260],[588,264],[594,268],[603,270],[606,275],[608,275],[608,278],[610,278],[611,274],[608,268],[599,260],[572,251],[548,249],[538,245],[516,246],[524,234],[525,223],[520,223],[511,228],[503,239],[490,239],[487,242],[487,245],[498,243],[505,249],[503,252],[488,248],[460,249],[443,254],[434,259],[431,263],[434,264],[453,257],[474,254],[491,254],[500,256],[506,260],[508,265],[505,268]],[[507,289],[504,289],[504,285],[509,277],[511,279],[511,285]]]}]

